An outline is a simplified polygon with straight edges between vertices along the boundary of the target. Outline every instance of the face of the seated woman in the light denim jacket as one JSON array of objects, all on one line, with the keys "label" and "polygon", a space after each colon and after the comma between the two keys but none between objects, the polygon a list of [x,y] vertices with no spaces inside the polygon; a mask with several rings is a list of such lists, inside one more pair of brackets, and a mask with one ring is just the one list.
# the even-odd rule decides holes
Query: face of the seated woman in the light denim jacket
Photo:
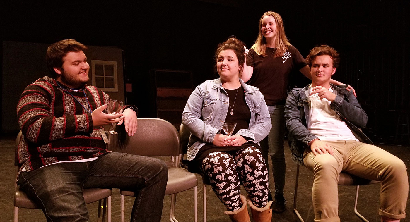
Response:
[{"label": "face of the seated woman in the light denim jacket", "polygon": [[239,63],[234,50],[222,50],[216,59],[216,70],[225,82],[239,78]]}]

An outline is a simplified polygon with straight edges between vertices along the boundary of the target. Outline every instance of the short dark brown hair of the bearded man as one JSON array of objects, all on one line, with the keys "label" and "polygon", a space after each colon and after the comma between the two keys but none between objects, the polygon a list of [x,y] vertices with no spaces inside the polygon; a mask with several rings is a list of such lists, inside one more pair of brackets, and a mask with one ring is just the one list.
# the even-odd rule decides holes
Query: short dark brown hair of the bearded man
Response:
[{"label": "short dark brown hair of the bearded man", "polygon": [[68,52],[80,52],[85,50],[87,50],[87,46],[75,41],[74,39],[65,39],[48,46],[46,63],[51,77],[57,77],[57,73],[54,71],[54,68],[63,66],[63,58]]}]

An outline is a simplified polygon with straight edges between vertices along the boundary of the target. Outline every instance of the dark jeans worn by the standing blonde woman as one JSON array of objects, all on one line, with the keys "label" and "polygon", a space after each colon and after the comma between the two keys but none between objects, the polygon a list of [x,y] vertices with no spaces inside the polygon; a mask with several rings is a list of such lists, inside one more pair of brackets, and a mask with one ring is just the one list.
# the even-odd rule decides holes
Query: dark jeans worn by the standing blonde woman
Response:
[{"label": "dark jeans worn by the standing blonde woman", "polygon": [[283,140],[285,137],[285,106],[268,106],[272,128],[268,136],[260,141],[262,155],[269,173],[268,154],[272,160],[272,174],[275,181],[275,195],[283,195],[285,188],[286,162]]}]

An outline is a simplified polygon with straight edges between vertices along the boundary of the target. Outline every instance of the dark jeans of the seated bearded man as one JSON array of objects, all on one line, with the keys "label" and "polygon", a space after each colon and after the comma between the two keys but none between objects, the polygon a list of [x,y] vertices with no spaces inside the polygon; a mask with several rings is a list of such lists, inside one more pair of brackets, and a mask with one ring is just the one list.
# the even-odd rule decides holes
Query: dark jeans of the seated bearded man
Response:
[{"label": "dark jeans of the seated bearded man", "polygon": [[164,161],[111,152],[95,161],[22,172],[18,183],[41,206],[48,221],[89,221],[83,188],[134,191],[131,221],[160,221],[167,180]]}]

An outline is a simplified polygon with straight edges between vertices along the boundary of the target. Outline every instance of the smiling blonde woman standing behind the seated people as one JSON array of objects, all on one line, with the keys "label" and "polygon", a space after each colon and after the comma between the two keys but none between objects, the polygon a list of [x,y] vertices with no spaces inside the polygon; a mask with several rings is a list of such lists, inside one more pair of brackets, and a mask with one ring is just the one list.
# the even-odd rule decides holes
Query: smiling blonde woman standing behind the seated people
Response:
[{"label": "smiling blonde woman standing behind the seated people", "polygon": [[[272,159],[272,173],[275,181],[275,202],[273,212],[285,211],[285,153],[283,138],[285,132],[285,100],[289,74],[299,70],[307,78],[309,67],[301,53],[289,43],[283,27],[282,17],[276,12],[265,12],[259,20],[259,35],[246,56],[246,65],[241,79],[260,89],[265,97],[271,116],[272,128],[269,135],[260,142],[266,166],[268,154]],[[342,85],[332,79],[334,85]],[[349,86],[348,91],[354,89]],[[355,94],[355,93],[354,93]]]}]

